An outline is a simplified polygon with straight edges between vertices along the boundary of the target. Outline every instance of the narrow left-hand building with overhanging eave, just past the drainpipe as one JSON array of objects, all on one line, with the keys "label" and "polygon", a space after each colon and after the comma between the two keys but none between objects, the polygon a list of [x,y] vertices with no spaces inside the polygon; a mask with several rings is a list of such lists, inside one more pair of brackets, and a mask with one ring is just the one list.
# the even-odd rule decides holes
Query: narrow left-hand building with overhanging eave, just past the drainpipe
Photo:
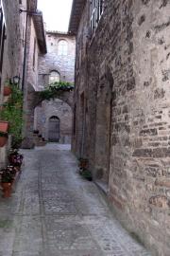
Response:
[{"label": "narrow left-hand building with overhanging eave, just past the drainpipe", "polygon": [[37,10],[37,0],[30,1],[26,27],[26,70],[24,81],[24,141],[23,148],[34,146],[33,123],[38,91],[39,55],[47,52],[42,12]]}]

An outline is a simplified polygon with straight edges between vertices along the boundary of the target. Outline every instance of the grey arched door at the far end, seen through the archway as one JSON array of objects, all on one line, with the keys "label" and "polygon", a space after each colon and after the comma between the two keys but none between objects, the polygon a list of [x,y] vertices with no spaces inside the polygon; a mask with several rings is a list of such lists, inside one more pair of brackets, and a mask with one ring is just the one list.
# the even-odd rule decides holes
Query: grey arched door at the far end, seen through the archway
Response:
[{"label": "grey arched door at the far end, seen through the archway", "polygon": [[59,142],[59,118],[51,117],[49,119],[48,140],[51,142]]}]

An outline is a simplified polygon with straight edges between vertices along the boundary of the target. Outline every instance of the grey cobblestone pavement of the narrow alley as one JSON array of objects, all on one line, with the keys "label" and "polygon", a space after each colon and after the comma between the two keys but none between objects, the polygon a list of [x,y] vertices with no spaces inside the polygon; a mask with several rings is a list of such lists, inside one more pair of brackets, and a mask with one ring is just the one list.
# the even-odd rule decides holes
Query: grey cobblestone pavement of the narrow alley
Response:
[{"label": "grey cobblestone pavement of the narrow alley", "polygon": [[16,191],[0,198],[0,256],[149,256],[113,218],[66,146],[24,151]]}]

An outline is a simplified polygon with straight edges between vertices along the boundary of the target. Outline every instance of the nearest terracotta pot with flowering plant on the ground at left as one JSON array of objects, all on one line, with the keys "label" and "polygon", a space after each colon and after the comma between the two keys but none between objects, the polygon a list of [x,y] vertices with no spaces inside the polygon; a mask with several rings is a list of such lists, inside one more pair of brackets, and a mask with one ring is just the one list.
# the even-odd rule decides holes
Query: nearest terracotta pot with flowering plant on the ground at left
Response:
[{"label": "nearest terracotta pot with flowering plant on the ground at left", "polygon": [[8,166],[7,168],[2,170],[1,174],[1,186],[3,188],[3,197],[7,198],[11,195],[12,182],[15,177],[15,170],[12,166]]}]

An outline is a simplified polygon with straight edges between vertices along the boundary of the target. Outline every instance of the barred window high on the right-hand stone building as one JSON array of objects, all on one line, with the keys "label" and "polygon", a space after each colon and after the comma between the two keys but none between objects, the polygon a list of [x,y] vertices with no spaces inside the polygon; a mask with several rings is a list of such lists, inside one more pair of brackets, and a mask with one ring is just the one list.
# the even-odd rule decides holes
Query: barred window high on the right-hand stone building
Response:
[{"label": "barred window high on the right-hand stone building", "polygon": [[98,25],[104,9],[104,0],[91,0],[91,36]]}]

